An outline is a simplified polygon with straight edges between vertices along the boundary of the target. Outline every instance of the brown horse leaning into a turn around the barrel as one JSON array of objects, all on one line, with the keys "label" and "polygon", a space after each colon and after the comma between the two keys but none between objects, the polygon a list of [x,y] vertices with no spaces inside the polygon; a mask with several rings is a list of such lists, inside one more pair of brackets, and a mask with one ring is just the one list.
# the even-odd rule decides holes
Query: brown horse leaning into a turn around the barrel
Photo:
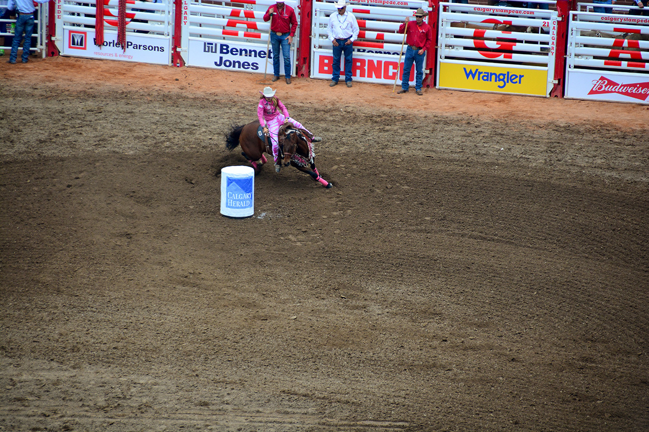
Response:
[{"label": "brown horse leaning into a turn around the barrel", "polygon": [[[234,126],[225,136],[225,148],[234,150],[241,145],[241,154],[250,161],[255,174],[259,173],[263,164],[268,162],[264,152],[273,156],[270,138],[258,134],[259,122],[252,121],[247,125]],[[304,129],[293,126],[293,123],[286,123],[280,127],[277,134],[280,145],[280,164],[288,167],[293,165],[303,173],[309,174],[313,180],[320,182],[324,187],[330,189],[333,185],[320,176],[315,167],[315,153],[313,143]],[[268,145],[266,145],[268,143]],[[276,168],[279,172],[279,167]]]}]

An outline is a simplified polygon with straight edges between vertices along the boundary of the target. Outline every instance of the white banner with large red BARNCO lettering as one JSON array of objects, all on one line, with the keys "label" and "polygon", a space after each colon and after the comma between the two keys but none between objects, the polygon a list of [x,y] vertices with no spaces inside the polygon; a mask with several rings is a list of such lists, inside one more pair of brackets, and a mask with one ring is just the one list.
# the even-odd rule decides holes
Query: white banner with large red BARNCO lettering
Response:
[{"label": "white banner with large red BARNCO lettering", "polygon": [[[314,50],[314,70],[311,71],[313,78],[326,78],[331,79],[332,64],[334,63],[334,56],[331,51],[327,54],[319,50]],[[402,79],[404,62],[401,61],[401,67],[398,67],[398,55],[394,56],[391,60],[389,56],[382,56],[381,58],[363,56],[362,54],[354,53],[354,60],[352,63],[352,78],[359,82],[375,82],[378,84],[394,84],[395,77],[397,77],[397,69],[399,71],[398,84]],[[341,57],[340,77],[341,80],[345,79],[345,56]],[[425,64],[425,63],[424,63]],[[410,85],[415,85],[415,65],[410,69]]]}]

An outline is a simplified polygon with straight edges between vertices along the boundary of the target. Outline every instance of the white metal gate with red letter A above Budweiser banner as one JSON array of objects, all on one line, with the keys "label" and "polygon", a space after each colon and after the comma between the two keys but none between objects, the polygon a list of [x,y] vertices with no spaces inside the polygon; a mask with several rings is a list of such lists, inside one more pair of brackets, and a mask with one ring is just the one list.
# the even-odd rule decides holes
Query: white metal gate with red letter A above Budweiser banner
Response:
[{"label": "white metal gate with red letter A above Budweiser banner", "polygon": [[565,97],[649,104],[649,17],[579,6],[570,12]]}]

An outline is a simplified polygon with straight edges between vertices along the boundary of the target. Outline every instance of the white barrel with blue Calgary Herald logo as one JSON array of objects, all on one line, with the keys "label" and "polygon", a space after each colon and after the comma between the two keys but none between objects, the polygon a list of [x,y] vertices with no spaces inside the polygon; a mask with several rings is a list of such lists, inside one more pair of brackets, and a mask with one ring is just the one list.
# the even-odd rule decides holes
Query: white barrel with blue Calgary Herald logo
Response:
[{"label": "white barrel with blue Calgary Herald logo", "polygon": [[221,169],[221,214],[250,217],[254,214],[254,169],[236,165]]}]

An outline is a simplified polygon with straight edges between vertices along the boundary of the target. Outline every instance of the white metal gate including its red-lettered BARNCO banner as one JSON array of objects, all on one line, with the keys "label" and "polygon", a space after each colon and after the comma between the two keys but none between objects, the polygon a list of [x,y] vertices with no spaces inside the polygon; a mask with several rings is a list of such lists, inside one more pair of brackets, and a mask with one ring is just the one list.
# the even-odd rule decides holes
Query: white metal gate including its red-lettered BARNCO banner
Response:
[{"label": "white metal gate including its red-lettered BARNCO banner", "polygon": [[[399,65],[399,54],[404,40],[397,33],[406,17],[412,18],[415,10],[428,10],[427,1],[369,0],[347,6],[358,21],[360,32],[354,41],[354,62],[352,77],[359,82],[393,84],[395,78],[402,79],[403,61]],[[330,14],[336,14],[334,3],[313,2],[311,34],[311,77],[331,79],[332,42],[328,39],[327,26]],[[431,51],[434,47],[430,47]],[[405,51],[404,51],[405,53]],[[432,55],[432,54],[428,54]],[[424,63],[427,64],[427,63]],[[341,56],[341,77],[345,75],[345,56]],[[397,77],[397,71],[398,77]],[[411,69],[410,82],[415,83],[415,67]]]}]

